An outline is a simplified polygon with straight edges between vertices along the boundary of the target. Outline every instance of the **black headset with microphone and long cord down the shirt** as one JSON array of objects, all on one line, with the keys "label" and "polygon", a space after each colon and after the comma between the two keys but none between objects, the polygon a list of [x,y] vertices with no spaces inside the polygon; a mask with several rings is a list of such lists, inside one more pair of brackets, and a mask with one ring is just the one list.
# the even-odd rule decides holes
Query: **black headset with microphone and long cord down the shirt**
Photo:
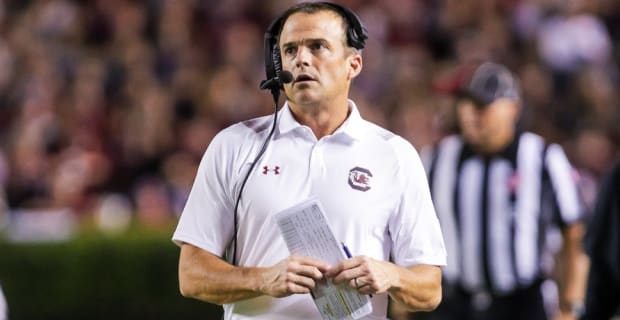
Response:
[{"label": "black headset with microphone and long cord down the shirt", "polygon": [[263,142],[263,145],[254,158],[250,169],[247,171],[242,183],[239,188],[239,193],[237,194],[237,198],[235,200],[234,207],[234,231],[233,231],[233,248],[232,248],[232,257],[229,257],[227,260],[231,261],[233,265],[236,264],[237,257],[237,228],[238,228],[238,217],[237,211],[239,208],[239,203],[241,202],[241,194],[243,193],[243,189],[250,177],[252,171],[254,171],[255,165],[258,163],[260,158],[267,150],[267,146],[269,145],[269,141],[273,136],[273,133],[276,128],[277,117],[278,117],[278,100],[280,98],[280,91],[284,90],[284,83],[289,83],[293,80],[293,75],[285,70],[282,70],[282,56],[280,54],[280,48],[278,46],[280,32],[282,31],[282,27],[284,23],[294,13],[302,12],[302,13],[316,13],[319,11],[333,11],[336,12],[344,19],[345,29],[347,33],[347,45],[349,47],[362,50],[366,46],[366,40],[368,39],[368,31],[360,18],[350,9],[338,5],[333,2],[302,2],[295,6],[292,6],[288,10],[286,10],[280,17],[276,18],[267,28],[265,32],[264,38],[264,50],[265,50],[265,75],[267,79],[262,80],[260,83],[260,89],[266,90],[269,89],[271,91],[271,95],[273,96],[274,101],[274,112],[273,112],[273,123],[271,126],[271,131],[267,135],[267,138]]}]

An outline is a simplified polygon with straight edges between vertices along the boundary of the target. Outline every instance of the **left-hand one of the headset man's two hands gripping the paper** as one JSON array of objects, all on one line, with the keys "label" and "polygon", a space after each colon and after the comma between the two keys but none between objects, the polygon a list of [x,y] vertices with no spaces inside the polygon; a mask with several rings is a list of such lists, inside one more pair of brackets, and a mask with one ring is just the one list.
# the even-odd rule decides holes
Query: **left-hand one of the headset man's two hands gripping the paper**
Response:
[{"label": "left-hand one of the headset man's two hands gripping the paper", "polygon": [[318,259],[292,255],[265,271],[261,291],[276,298],[310,293],[328,268]]}]

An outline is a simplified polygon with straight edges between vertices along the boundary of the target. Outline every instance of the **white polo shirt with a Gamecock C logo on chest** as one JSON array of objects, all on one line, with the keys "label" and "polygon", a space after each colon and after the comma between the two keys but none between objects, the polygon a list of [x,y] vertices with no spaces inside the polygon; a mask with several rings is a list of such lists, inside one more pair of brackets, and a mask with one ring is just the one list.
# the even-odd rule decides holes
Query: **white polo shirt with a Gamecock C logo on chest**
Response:
[{"label": "white polo shirt with a Gamecock C logo on chest", "polygon": [[[426,174],[413,146],[361,118],[352,101],[347,120],[317,141],[288,104],[254,167],[238,210],[237,261],[272,266],[289,255],[274,214],[319,199],[336,238],[355,255],[398,265],[443,266],[446,251]],[[271,129],[272,116],[232,125],[212,140],[200,163],[173,240],[223,256],[233,237],[242,180]],[[372,298],[385,319],[387,294]],[[226,319],[321,319],[309,294],[261,296],[224,305]]]}]

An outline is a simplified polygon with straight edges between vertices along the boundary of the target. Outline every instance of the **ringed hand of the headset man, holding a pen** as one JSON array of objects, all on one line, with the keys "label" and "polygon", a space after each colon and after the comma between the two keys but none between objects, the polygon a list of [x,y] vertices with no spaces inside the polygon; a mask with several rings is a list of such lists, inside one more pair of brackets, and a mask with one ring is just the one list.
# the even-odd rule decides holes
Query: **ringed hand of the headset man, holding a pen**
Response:
[{"label": "ringed hand of the headset man, holding a pen", "polygon": [[366,256],[342,260],[329,268],[325,276],[333,277],[335,284],[348,283],[361,294],[384,293],[398,283],[398,272],[391,263]]}]

